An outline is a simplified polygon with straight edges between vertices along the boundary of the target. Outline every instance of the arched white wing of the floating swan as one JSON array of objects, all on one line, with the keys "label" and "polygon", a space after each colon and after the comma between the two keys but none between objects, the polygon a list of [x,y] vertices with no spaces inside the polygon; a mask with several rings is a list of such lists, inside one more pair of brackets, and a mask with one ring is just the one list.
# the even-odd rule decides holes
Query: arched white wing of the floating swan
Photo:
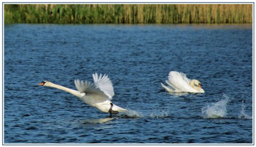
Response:
[{"label": "arched white wing of the floating swan", "polygon": [[186,74],[177,71],[170,71],[168,81],[166,81],[175,89],[175,92],[197,92],[189,85],[189,82],[190,79],[187,78]]}]

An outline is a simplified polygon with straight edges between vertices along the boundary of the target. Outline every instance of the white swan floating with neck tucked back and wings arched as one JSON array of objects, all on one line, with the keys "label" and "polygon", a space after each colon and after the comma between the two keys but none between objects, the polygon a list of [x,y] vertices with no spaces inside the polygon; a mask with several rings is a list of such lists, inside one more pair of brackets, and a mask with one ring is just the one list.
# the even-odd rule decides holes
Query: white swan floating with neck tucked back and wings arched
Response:
[{"label": "white swan floating with neck tucked back and wings arched", "polygon": [[168,80],[165,81],[168,85],[161,83],[162,87],[170,93],[204,93],[202,84],[199,80],[190,80],[186,74],[177,71],[170,71]]}]

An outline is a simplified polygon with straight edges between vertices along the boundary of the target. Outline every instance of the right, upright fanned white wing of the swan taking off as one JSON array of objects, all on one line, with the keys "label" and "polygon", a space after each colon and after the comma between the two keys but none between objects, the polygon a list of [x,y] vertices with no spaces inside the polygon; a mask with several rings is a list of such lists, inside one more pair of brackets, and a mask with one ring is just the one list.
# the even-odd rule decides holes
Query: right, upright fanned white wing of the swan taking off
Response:
[{"label": "right, upright fanned white wing of the swan taking off", "polygon": [[93,74],[93,81],[95,86],[100,89],[106,96],[109,97],[109,99],[112,100],[112,97],[115,95],[112,82],[108,75],[100,74],[98,76],[97,73]]}]

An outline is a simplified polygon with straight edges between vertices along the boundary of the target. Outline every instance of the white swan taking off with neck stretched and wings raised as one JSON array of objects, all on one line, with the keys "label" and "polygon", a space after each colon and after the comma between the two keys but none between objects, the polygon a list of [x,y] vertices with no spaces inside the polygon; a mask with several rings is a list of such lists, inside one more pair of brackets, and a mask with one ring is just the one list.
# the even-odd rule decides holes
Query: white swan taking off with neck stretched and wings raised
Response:
[{"label": "white swan taking off with neck stretched and wings raised", "polygon": [[115,95],[113,85],[108,75],[97,73],[93,74],[93,81],[80,81],[79,79],[74,80],[76,90],[69,89],[65,86],[57,85],[49,81],[42,81],[38,85],[54,87],[56,89],[66,91],[74,96],[77,96],[84,103],[96,107],[102,112],[117,114],[119,112],[127,111],[124,108],[118,107],[111,102],[112,97]]}]

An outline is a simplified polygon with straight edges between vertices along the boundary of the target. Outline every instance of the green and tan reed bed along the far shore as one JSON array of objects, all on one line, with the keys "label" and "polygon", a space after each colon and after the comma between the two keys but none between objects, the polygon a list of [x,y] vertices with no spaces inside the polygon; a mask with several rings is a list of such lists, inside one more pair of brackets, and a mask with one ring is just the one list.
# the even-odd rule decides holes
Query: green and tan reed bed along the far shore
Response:
[{"label": "green and tan reed bed along the far shore", "polygon": [[252,23],[252,4],[4,4],[4,23]]}]

